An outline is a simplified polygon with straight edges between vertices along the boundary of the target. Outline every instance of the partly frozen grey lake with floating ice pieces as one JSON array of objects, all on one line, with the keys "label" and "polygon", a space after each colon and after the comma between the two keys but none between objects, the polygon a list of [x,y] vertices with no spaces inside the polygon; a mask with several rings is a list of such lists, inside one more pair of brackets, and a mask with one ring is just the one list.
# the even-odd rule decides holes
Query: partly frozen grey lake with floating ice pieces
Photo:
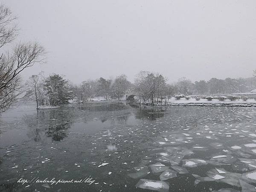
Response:
[{"label": "partly frozen grey lake with floating ice pieces", "polygon": [[26,103],[0,131],[0,191],[256,191],[254,107]]}]

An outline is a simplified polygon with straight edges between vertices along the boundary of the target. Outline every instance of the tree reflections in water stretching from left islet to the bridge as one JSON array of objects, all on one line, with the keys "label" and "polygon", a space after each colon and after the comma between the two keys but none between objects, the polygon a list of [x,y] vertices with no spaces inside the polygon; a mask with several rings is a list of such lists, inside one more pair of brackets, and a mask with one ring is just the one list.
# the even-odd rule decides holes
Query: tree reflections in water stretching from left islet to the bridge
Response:
[{"label": "tree reflections in water stretching from left islet to the bridge", "polygon": [[95,117],[102,116],[102,118],[98,119],[102,123],[110,120],[110,123],[123,125],[131,115],[130,112],[120,114],[119,110],[129,108],[123,102],[88,102],[87,105],[80,105],[80,110],[77,107],[79,105],[68,105],[62,106],[59,109],[38,110],[38,113],[34,115],[23,116],[23,121],[28,127],[27,136],[35,142],[46,142],[47,137],[52,137],[52,140],[55,141],[61,141],[67,137],[64,130],[70,128],[72,122],[82,121],[87,123],[97,120],[93,119]]}]

